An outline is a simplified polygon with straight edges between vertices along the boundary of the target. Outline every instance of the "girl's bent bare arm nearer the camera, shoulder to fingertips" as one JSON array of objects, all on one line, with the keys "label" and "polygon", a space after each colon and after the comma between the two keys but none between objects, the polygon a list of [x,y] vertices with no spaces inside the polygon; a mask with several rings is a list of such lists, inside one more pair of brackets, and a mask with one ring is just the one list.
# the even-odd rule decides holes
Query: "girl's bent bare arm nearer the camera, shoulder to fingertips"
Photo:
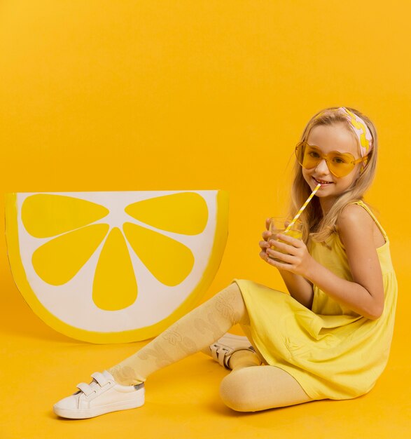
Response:
[{"label": "girl's bent bare arm nearer the camera, shoulder to fingertips", "polygon": [[276,247],[291,255],[283,255],[267,249],[274,257],[285,263],[270,259],[270,264],[300,274],[308,281],[333,297],[336,302],[347,306],[354,312],[375,320],[384,309],[384,286],[381,266],[373,238],[374,220],[359,205],[348,205],[337,222],[342,243],[344,243],[353,281],[336,276],[309,255],[302,241],[281,235],[286,243],[274,241]]}]

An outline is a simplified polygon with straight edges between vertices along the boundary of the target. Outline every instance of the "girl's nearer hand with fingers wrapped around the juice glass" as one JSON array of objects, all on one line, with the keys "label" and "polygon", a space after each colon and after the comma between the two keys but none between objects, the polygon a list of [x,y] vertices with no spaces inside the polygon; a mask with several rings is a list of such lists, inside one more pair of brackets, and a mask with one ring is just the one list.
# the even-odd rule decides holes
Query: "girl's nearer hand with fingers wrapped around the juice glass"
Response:
[{"label": "girl's nearer hand with fingers wrapped around the juice glass", "polygon": [[[281,262],[274,261],[274,259],[270,259],[269,257],[267,258],[268,264],[275,266],[279,270],[291,271],[291,273],[307,277],[310,266],[314,261],[307,250],[307,245],[305,245],[300,239],[292,238],[286,234],[278,234],[272,236],[272,238],[275,238],[275,240],[269,240],[266,253],[268,256],[280,259]],[[277,240],[284,241],[284,243]],[[284,251],[285,254],[277,250],[271,250],[270,247],[272,246]]]}]

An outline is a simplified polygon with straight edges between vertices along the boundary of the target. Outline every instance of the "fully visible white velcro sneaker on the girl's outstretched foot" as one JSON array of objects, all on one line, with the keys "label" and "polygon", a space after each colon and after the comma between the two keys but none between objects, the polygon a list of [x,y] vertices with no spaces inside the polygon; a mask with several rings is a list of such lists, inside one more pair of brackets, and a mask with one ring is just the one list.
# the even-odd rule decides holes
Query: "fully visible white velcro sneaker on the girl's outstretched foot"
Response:
[{"label": "fully visible white velcro sneaker on the girl's outstretched foot", "polygon": [[63,418],[84,419],[144,404],[144,383],[122,386],[106,370],[91,376],[94,379],[90,384],[78,384],[78,392],[53,405],[55,414]]}]

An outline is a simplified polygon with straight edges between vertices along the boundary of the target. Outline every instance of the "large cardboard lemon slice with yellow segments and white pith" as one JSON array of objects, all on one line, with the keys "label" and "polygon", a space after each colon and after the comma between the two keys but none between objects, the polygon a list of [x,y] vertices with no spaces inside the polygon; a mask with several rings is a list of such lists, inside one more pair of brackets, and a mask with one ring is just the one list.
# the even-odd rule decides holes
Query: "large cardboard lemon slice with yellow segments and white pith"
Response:
[{"label": "large cardboard lemon slice with yellow segments and white pith", "polygon": [[86,342],[154,337],[193,309],[227,236],[225,191],[6,194],[16,285],[45,323]]}]

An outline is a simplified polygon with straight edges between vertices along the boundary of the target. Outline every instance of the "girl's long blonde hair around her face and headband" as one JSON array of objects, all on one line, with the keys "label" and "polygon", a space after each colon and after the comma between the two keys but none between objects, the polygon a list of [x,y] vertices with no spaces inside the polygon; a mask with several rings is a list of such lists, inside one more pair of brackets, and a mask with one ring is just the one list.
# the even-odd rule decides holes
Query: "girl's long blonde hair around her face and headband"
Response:
[{"label": "girl's long blonde hair around her face and headband", "polygon": [[[358,139],[354,133],[354,128],[352,128],[349,121],[347,121],[347,116],[342,112],[333,111],[337,108],[339,107],[326,108],[314,114],[302,132],[301,141],[307,141],[309,133],[314,126],[344,123],[344,126],[346,126],[347,129],[354,134],[354,137],[358,142]],[[350,112],[355,113],[357,116],[360,116],[361,119],[363,119],[363,121],[367,124],[372,135],[372,150],[368,154],[368,163],[365,166],[365,169],[362,170],[358,179],[355,180],[351,186],[337,198],[325,217],[323,217],[323,211],[321,210],[319,198],[316,196],[312,198],[311,203],[307,205],[307,208],[305,208],[300,216],[303,227],[302,240],[305,243],[308,242],[309,238],[313,239],[314,241],[324,243],[331,234],[337,231],[337,219],[342,210],[349,203],[363,201],[365,191],[368,190],[372,180],[374,180],[375,177],[378,151],[377,131],[375,130],[375,126],[367,116],[361,114],[358,112],[358,110],[350,107],[345,108],[349,109]],[[358,142],[358,151],[359,148],[360,145]],[[293,169],[293,186],[291,188],[291,204],[289,208],[290,217],[295,216],[302,204],[308,198],[309,194],[311,194],[311,189],[302,175],[301,165],[295,159]]]}]

